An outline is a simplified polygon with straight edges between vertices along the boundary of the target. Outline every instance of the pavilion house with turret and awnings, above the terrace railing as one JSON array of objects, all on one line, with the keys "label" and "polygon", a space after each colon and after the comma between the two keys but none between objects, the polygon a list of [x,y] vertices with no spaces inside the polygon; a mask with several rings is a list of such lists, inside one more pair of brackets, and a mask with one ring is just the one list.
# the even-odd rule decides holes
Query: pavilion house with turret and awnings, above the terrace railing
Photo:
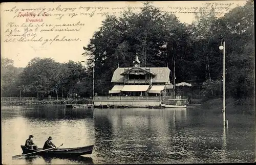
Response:
[{"label": "pavilion house with turret and awnings, above the terrace railing", "polygon": [[[160,96],[171,92],[168,67],[140,67],[138,55],[132,67],[118,67],[111,82],[110,96]],[[168,89],[167,89],[168,88]]]}]

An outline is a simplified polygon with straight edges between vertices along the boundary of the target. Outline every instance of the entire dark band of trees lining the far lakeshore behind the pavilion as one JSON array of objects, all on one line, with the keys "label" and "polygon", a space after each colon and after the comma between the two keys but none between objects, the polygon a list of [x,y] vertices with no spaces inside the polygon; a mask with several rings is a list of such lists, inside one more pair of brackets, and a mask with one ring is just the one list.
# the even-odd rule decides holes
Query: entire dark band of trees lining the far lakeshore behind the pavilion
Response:
[{"label": "entire dark band of trees lining the far lakeshore behind the pavilion", "polygon": [[13,61],[1,59],[2,95],[18,96],[23,90],[30,96],[36,96],[37,91],[45,96],[54,91],[55,96],[58,93],[66,97],[74,92],[89,97],[93,67],[95,92],[106,95],[113,86],[114,70],[118,65],[131,67],[138,52],[142,67],[168,66],[173,71],[175,59],[176,83],[196,82],[204,96],[221,97],[223,51],[219,46],[225,41],[227,96],[252,97],[253,5],[249,1],[220,18],[212,9],[197,15],[191,25],[150,3],[145,3],[140,13],[128,10],[120,17],[107,16],[84,48],[87,68],[73,61],[60,64],[49,58],[35,58],[20,73],[22,70],[13,67]]}]

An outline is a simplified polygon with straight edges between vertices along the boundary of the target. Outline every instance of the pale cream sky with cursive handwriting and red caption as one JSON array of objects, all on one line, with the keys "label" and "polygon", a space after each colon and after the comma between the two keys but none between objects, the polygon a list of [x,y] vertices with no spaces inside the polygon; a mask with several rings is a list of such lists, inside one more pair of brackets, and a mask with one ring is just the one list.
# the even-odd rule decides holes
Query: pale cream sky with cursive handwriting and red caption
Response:
[{"label": "pale cream sky with cursive handwriting and red caption", "polygon": [[[246,1],[158,1],[153,2],[153,5],[160,7],[163,11],[176,11],[175,14],[181,22],[191,23],[195,19],[194,14],[182,12],[193,11],[200,7],[207,7],[210,4],[215,6],[216,10],[223,12],[223,15],[232,8],[242,6],[245,3]],[[35,57],[50,57],[60,63],[68,62],[69,60],[75,62],[86,61],[86,58],[81,55],[84,53],[82,47],[88,45],[94,32],[101,27],[105,18],[104,13],[109,12],[111,14],[116,12],[115,15],[119,16],[128,6],[134,7],[133,10],[139,12],[138,7],[142,7],[143,4],[141,2],[1,3],[1,56],[13,59],[16,67],[25,67]],[[42,11],[41,9],[45,10]],[[41,15],[34,18],[33,16],[28,16],[31,11],[36,15],[38,13]],[[45,13],[44,16],[42,16],[43,13]],[[94,15],[90,17],[93,13]],[[49,16],[50,14],[52,16]],[[61,14],[63,16],[59,19]],[[42,19],[43,21],[28,22],[29,20],[27,19]],[[45,24],[44,27],[35,27],[37,23],[38,25]],[[54,25],[63,25],[63,23],[66,25],[74,23],[80,26],[62,26],[55,27],[55,29],[68,28],[72,30],[74,28],[79,31],[42,31],[42,29],[51,29],[50,25],[54,27]],[[29,26],[29,24],[33,27],[21,27],[22,25]],[[46,24],[48,27],[46,27]],[[29,35],[27,35],[28,33]],[[31,39],[33,36],[35,36],[35,39],[42,37],[42,39],[48,39],[48,41],[47,43],[44,43],[44,41],[17,42],[20,36],[16,35],[25,35],[25,39]],[[56,36],[59,40],[65,36],[65,39],[77,39],[77,41],[52,41],[51,43],[50,40]],[[13,38],[16,39],[15,42],[4,42],[6,39],[12,40]]]}]

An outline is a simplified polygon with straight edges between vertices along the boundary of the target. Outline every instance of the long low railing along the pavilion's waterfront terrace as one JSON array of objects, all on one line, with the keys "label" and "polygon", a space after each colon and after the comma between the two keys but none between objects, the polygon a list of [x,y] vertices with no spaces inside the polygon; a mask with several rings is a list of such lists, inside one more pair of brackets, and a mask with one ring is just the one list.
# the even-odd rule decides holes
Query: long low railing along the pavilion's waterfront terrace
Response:
[{"label": "long low railing along the pavilion's waterfront terrace", "polygon": [[146,97],[146,96],[95,96],[95,101],[100,100],[152,100],[152,101],[160,101],[160,97],[152,96],[152,97]]}]

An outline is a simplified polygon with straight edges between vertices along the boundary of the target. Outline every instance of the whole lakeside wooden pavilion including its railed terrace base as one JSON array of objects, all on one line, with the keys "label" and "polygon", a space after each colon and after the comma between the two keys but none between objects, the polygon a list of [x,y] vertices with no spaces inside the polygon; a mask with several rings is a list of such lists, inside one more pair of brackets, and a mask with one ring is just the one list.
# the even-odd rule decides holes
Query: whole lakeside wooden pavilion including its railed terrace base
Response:
[{"label": "whole lakeside wooden pavilion including its railed terrace base", "polygon": [[[160,106],[165,101],[166,94],[172,93],[173,84],[170,83],[169,75],[168,67],[140,67],[136,54],[132,67],[117,67],[115,70],[111,80],[114,87],[109,90],[109,96],[95,97],[94,104]],[[183,102],[184,108],[185,100],[179,101]],[[173,104],[176,102],[173,101]]]}]

